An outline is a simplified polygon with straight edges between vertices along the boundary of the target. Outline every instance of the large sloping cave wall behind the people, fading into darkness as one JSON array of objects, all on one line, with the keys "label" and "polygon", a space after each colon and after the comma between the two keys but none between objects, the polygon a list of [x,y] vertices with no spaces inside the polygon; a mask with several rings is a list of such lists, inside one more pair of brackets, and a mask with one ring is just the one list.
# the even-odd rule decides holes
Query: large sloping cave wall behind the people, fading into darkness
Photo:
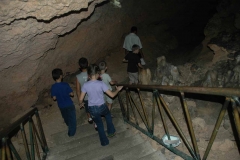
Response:
[{"label": "large sloping cave wall behind the people, fading into darkness", "polygon": [[[139,28],[150,63],[152,55],[161,56],[178,47],[179,39],[171,32],[177,33],[178,27],[182,32],[185,24],[190,27],[188,20],[198,6],[185,0],[120,0],[121,8],[116,8],[116,1],[112,2],[0,2],[0,117],[8,119],[33,106],[39,93],[54,83],[52,69],[60,67],[64,73],[72,73],[78,69],[77,61],[82,56],[92,63],[113,50],[121,50],[132,25]],[[202,4],[210,8],[208,3]],[[186,8],[191,14],[179,14]],[[177,17],[182,23],[172,23]]]}]

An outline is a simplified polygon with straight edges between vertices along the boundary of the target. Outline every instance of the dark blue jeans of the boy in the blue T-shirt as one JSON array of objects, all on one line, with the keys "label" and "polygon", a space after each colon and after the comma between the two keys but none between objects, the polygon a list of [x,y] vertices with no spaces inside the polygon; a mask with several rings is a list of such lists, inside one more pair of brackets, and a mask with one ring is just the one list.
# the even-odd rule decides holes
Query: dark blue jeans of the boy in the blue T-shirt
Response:
[{"label": "dark blue jeans of the boy in the blue T-shirt", "polygon": [[59,108],[64,119],[64,122],[68,126],[68,136],[74,136],[76,133],[77,122],[76,122],[76,110],[75,106],[69,106],[64,108]]}]

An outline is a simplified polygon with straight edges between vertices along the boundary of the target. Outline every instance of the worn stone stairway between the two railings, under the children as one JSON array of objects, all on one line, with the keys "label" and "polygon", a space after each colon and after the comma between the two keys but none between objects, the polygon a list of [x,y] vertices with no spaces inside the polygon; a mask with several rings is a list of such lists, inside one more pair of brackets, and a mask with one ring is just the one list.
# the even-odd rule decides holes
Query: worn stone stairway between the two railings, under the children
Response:
[{"label": "worn stone stairway between the two railings, under the children", "polygon": [[[106,123],[103,119],[106,129]],[[134,134],[124,124],[121,116],[113,118],[116,135],[109,138],[109,145],[102,147],[94,126],[77,127],[74,137],[67,131],[52,135],[54,147],[50,148],[47,160],[166,160],[160,151],[152,148],[141,135]]]}]

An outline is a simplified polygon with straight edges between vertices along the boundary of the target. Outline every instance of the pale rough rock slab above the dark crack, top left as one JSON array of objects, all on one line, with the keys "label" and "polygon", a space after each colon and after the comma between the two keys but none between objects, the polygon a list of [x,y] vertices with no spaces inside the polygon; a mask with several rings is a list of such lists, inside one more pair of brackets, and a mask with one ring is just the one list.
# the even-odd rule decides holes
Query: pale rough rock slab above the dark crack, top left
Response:
[{"label": "pale rough rock slab above the dark crack, top left", "polygon": [[[88,8],[96,0],[29,0],[2,2],[0,12],[1,24],[10,24],[16,20],[34,18],[50,21],[53,17]],[[101,2],[101,1],[98,1]]]}]

